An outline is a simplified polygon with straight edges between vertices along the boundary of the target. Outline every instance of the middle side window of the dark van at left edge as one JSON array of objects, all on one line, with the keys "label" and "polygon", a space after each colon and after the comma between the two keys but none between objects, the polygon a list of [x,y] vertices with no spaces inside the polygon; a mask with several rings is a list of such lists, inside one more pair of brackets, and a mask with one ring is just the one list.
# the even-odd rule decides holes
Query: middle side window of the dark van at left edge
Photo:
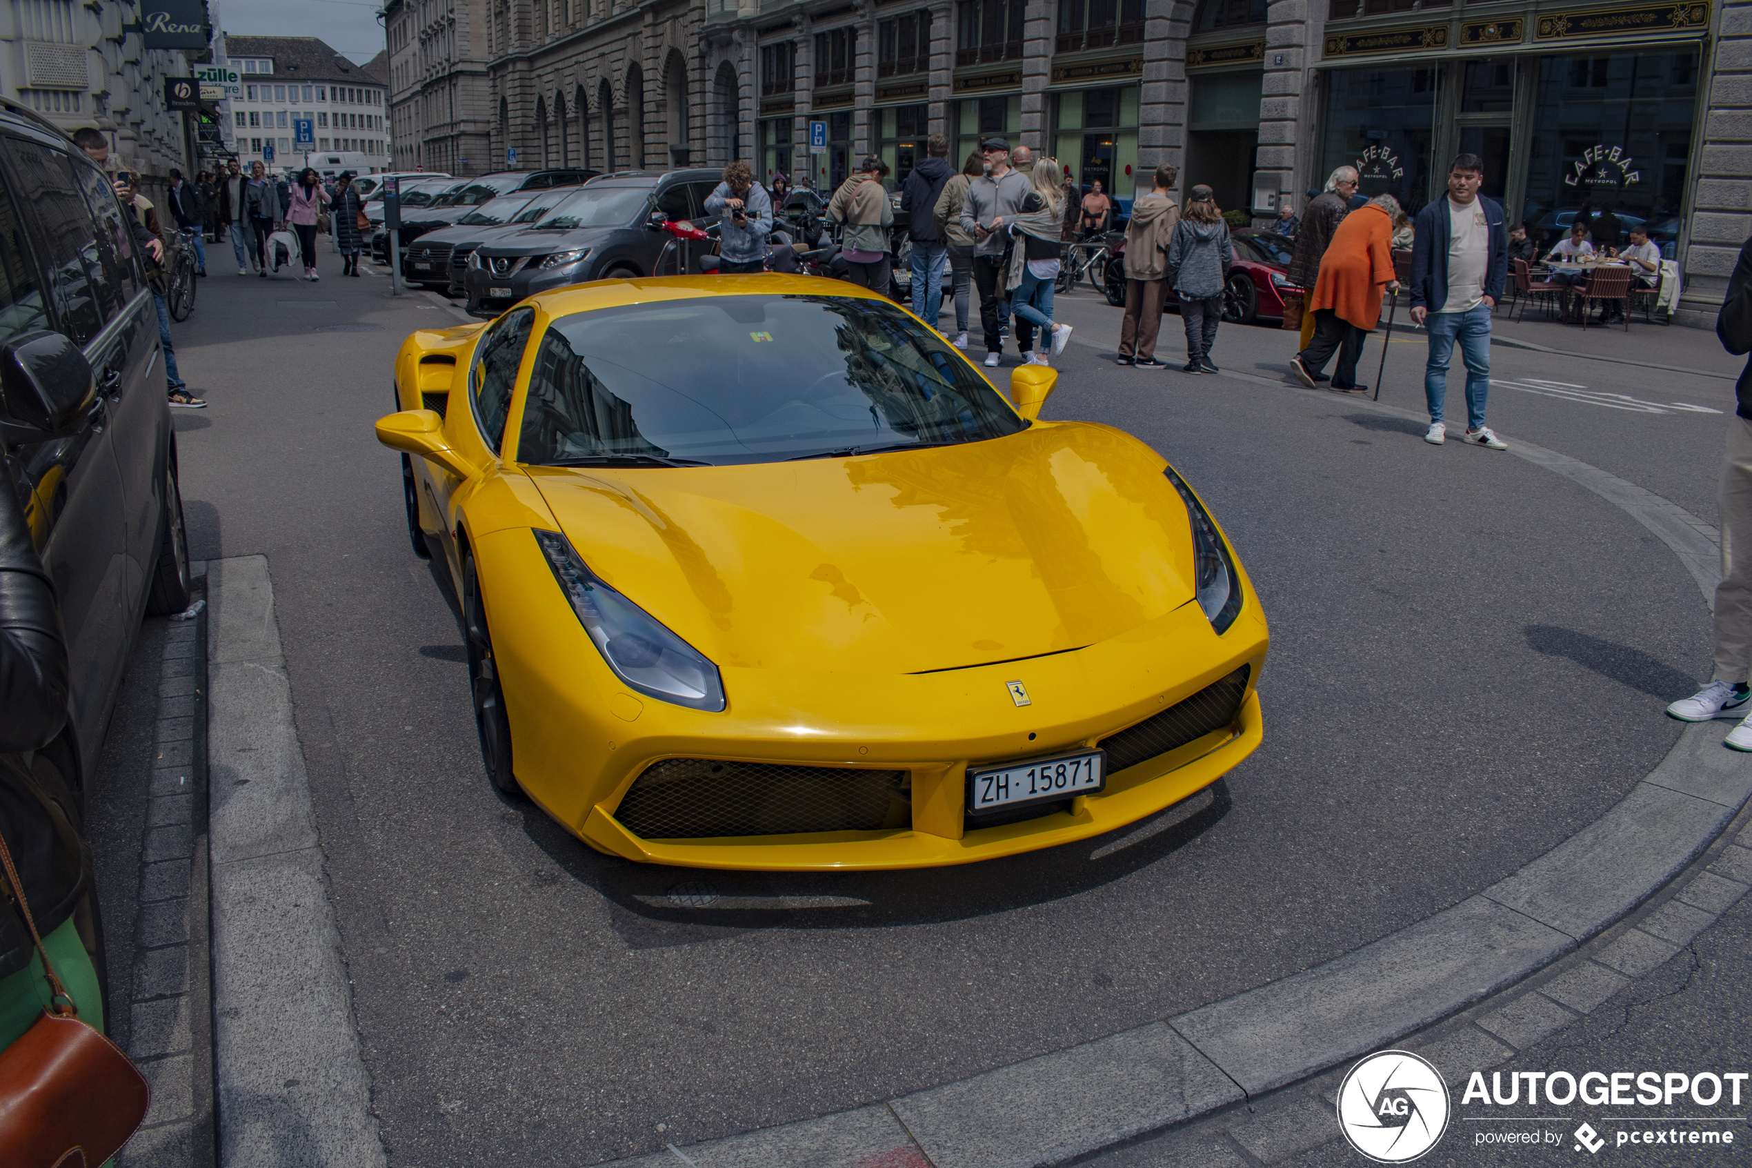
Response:
[{"label": "middle side window of the dark van at left edge", "polygon": [[49,298],[61,331],[84,345],[103,329],[103,305],[114,303],[98,263],[96,224],[74,189],[72,159],[35,142],[9,140],[18,161],[18,201],[33,214],[44,245]]}]

